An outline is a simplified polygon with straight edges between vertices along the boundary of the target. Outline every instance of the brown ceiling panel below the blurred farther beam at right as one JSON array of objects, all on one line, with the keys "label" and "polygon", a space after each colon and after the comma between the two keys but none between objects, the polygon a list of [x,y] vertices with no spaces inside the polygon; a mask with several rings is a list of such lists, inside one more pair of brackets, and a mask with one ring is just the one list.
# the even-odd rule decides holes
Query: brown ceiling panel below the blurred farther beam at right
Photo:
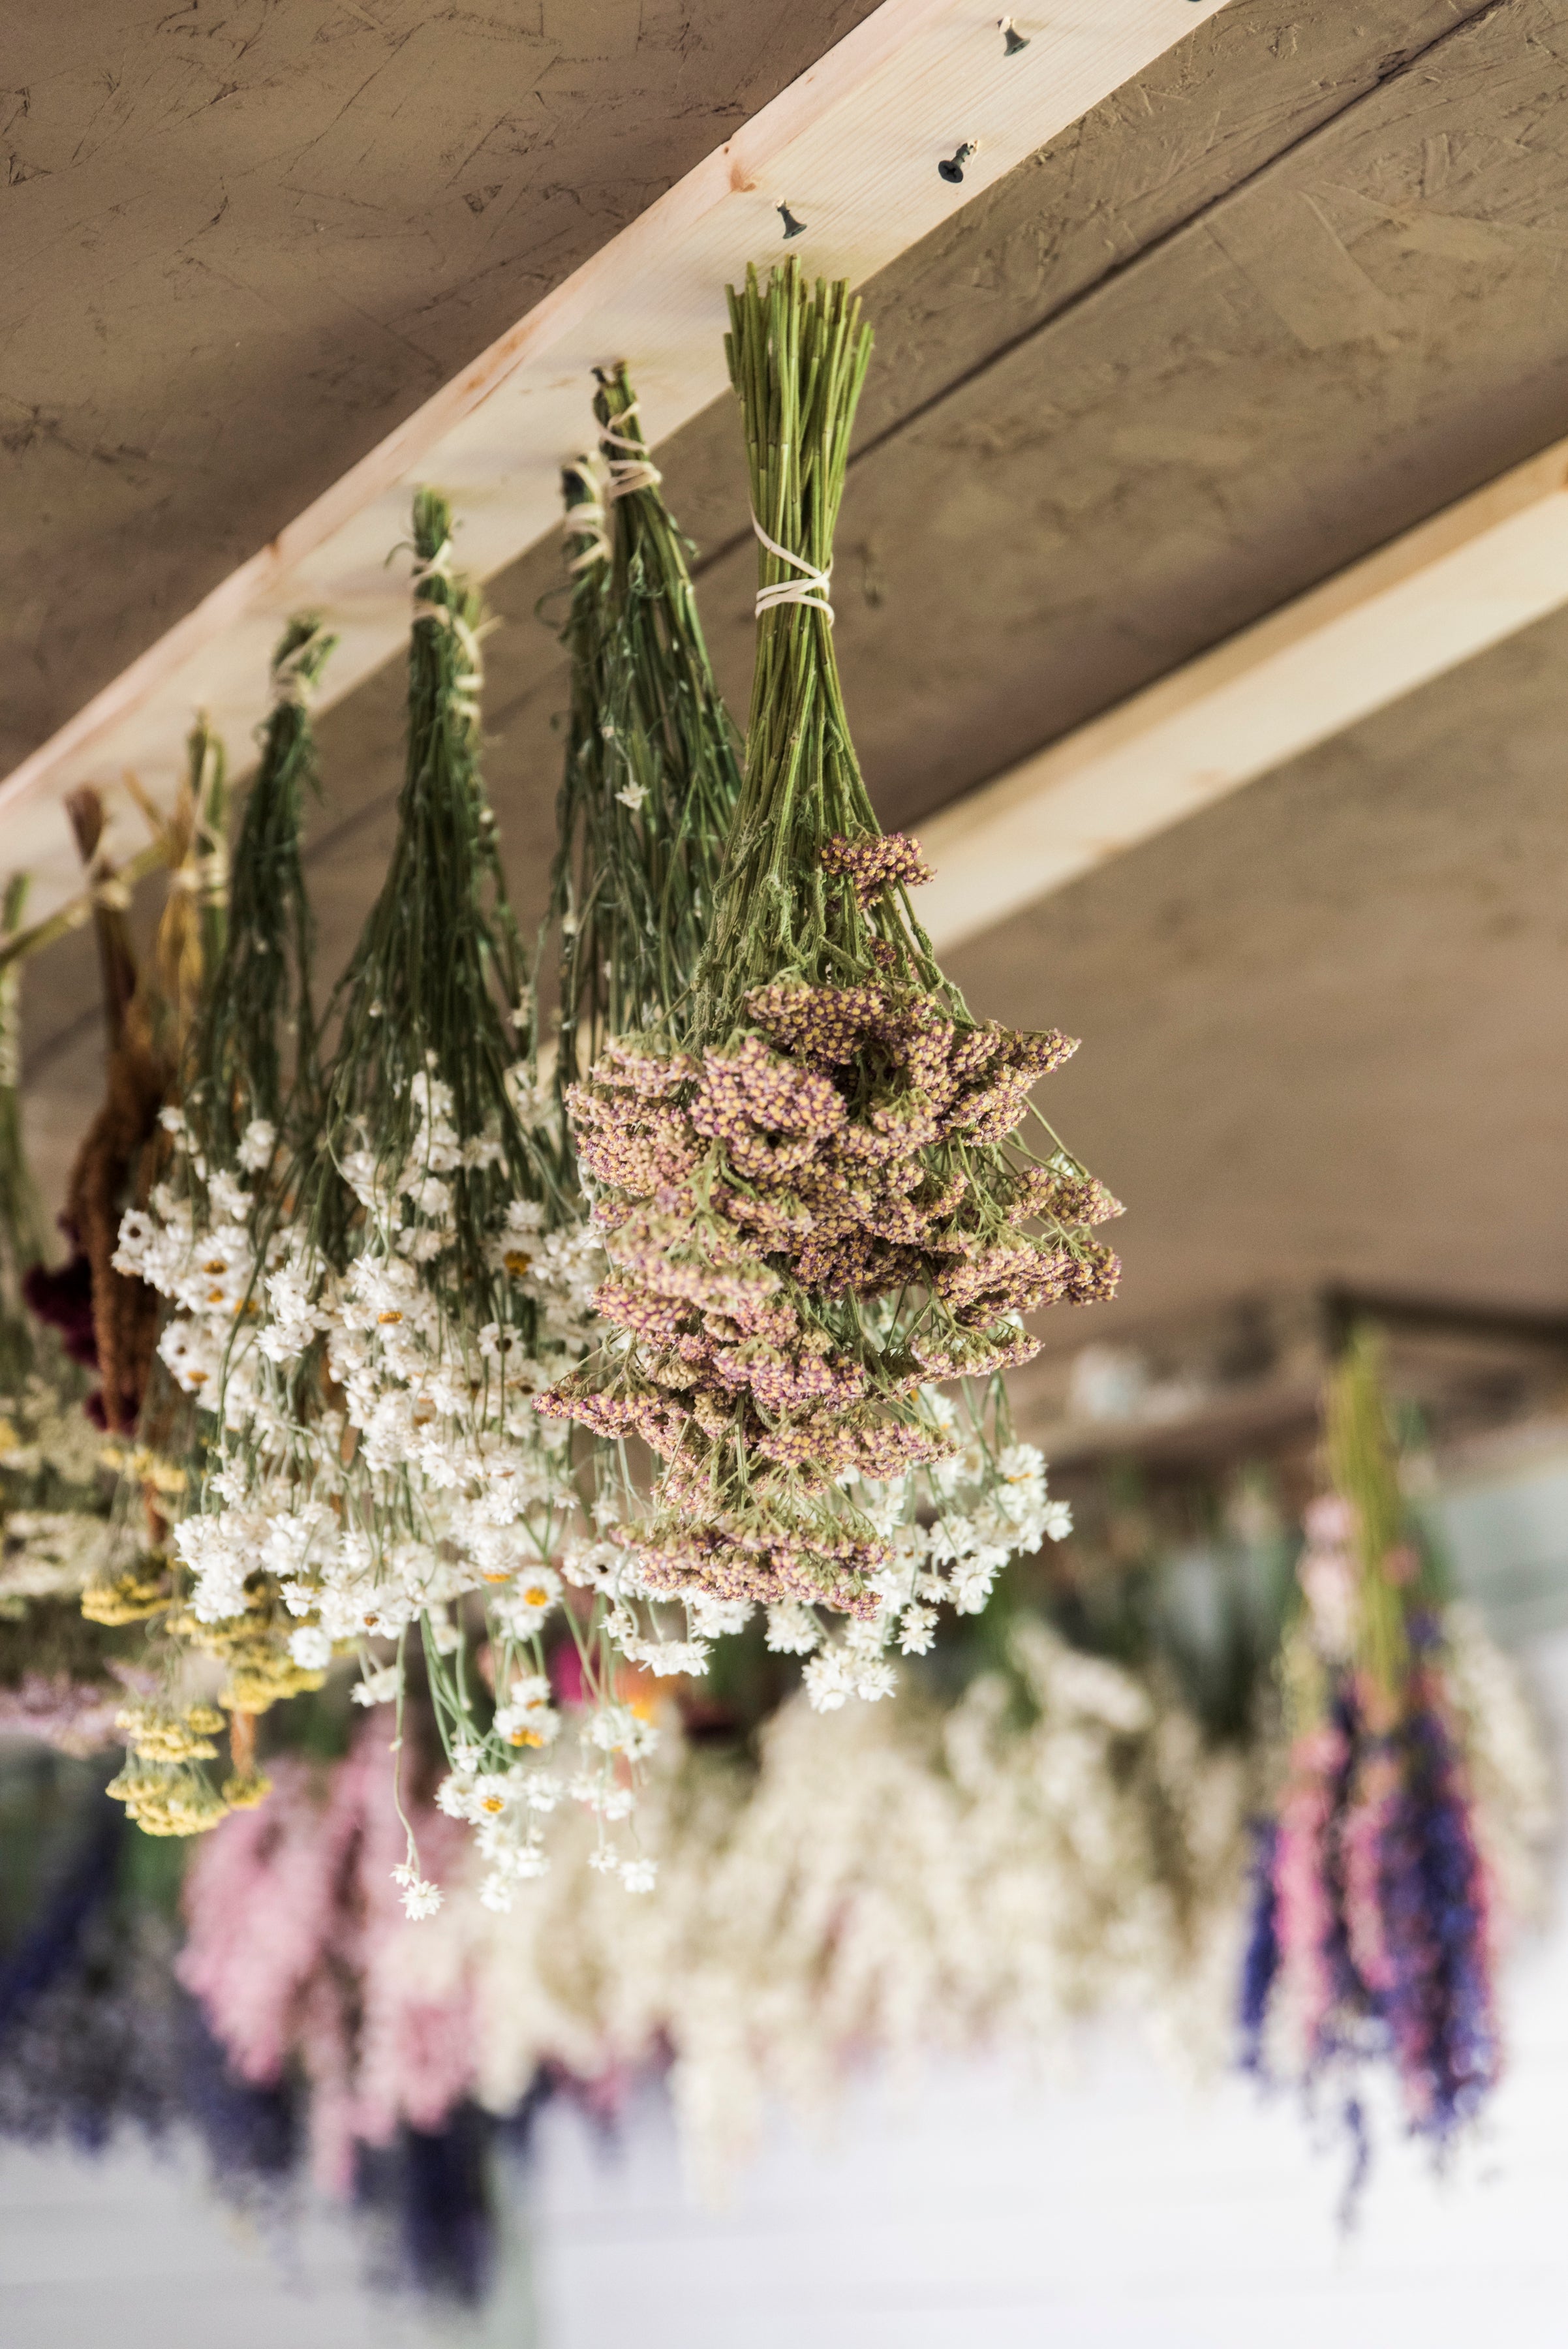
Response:
[{"label": "brown ceiling panel below the blurred farther beam at right", "polygon": [[1042,1088],[1127,1203],[1082,1344],[1338,1280],[1568,1308],[1556,613],[953,956],[1082,1048]]}]

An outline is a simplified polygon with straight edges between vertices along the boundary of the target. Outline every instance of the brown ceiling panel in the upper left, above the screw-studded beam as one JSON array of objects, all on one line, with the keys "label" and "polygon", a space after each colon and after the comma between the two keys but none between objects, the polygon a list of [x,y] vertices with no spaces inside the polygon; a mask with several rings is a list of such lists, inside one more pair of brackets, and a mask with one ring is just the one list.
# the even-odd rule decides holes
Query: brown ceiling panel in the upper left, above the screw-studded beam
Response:
[{"label": "brown ceiling panel in the upper left, above the screw-studded beam", "polygon": [[873,5],[7,9],[0,770]]}]

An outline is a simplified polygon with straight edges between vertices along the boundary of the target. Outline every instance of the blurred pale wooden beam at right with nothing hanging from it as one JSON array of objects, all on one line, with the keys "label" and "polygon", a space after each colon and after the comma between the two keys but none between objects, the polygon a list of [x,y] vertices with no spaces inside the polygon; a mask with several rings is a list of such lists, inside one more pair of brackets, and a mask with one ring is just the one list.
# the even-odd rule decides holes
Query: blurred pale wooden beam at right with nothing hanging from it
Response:
[{"label": "blurred pale wooden beam at right with nothing hanging from it", "polygon": [[1568,601],[1568,442],[920,824],[958,947]]}]

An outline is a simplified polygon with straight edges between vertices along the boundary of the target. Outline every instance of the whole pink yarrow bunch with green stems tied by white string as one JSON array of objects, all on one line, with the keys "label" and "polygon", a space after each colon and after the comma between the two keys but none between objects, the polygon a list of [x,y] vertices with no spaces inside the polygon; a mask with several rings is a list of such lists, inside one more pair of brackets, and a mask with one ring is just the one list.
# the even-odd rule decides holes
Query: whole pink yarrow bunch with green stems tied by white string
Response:
[{"label": "whole pink yarrow bunch with green stems tied by white string", "polygon": [[1073,1045],[969,1017],[908,911],[918,848],[880,836],[854,761],[826,583],[859,305],[751,275],[728,352],[763,543],[746,778],[690,1001],[570,1095],[615,1337],[542,1409],[660,1454],[634,1588],[763,1600],[779,1644],[815,1644],[817,1604],[869,1649],[899,1621],[920,1644],[944,1560],[850,1487],[953,1454],[930,1381],[1021,1362],[1026,1311],[1110,1294],[1091,1226],[1115,1203],[1054,1135],[1021,1146]]}]

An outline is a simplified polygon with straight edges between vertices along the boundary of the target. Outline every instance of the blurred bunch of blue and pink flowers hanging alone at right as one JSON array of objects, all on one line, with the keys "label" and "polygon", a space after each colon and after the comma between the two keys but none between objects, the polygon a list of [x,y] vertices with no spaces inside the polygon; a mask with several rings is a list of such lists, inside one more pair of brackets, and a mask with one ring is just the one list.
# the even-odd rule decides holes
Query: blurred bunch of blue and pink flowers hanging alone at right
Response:
[{"label": "blurred bunch of blue and pink flowers hanging alone at right", "polygon": [[[1505,1668],[1479,1626],[1441,1604],[1366,1334],[1331,1379],[1326,1442],[1331,1489],[1307,1513],[1303,1609],[1284,1656],[1289,1776],[1261,1846],[1242,2025],[1253,2069],[1340,2100],[1354,2199],[1366,2062],[1392,2065],[1411,2131],[1439,2154],[1498,2079],[1505,1914],[1476,1722],[1495,1710],[1486,1691]],[[1540,1762],[1535,1776],[1540,1813]]]}]

